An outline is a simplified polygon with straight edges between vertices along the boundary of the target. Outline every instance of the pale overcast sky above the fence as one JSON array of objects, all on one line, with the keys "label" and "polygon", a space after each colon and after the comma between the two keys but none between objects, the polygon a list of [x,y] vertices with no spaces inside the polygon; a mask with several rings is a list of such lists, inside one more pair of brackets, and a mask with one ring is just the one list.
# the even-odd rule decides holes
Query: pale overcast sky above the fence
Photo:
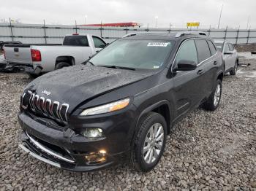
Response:
[{"label": "pale overcast sky above the fence", "polygon": [[11,17],[22,23],[78,24],[135,21],[143,26],[185,27],[198,21],[200,26],[216,27],[224,3],[221,28],[256,28],[255,0],[1,0],[0,19]]}]

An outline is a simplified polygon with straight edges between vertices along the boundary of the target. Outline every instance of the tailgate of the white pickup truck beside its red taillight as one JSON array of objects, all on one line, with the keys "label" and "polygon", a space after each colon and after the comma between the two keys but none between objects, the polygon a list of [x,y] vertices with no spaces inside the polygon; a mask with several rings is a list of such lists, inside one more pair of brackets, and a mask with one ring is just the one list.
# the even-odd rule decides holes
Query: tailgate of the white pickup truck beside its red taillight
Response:
[{"label": "tailgate of the white pickup truck beside its red taillight", "polygon": [[31,63],[31,47],[29,44],[6,44],[4,52],[8,63]]}]

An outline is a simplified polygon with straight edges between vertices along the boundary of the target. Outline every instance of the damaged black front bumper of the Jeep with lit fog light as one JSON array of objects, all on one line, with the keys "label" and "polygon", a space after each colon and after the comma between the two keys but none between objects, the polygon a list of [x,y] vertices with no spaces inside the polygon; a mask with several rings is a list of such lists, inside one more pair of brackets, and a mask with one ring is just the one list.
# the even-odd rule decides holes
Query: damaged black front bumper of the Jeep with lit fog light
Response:
[{"label": "damaged black front bumper of the Jeep with lit fog light", "polygon": [[88,139],[70,128],[48,128],[23,113],[18,114],[18,120],[23,128],[20,148],[58,168],[94,171],[113,165],[124,155],[124,152],[109,154],[104,138]]}]

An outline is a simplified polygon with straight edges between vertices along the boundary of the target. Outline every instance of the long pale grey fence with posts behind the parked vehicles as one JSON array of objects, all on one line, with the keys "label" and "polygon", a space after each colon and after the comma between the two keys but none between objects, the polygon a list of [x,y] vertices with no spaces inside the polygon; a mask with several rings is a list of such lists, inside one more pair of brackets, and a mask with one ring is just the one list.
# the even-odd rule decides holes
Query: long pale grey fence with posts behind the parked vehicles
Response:
[{"label": "long pale grey fence with posts behind the parked vehicles", "polygon": [[[187,28],[138,28],[138,27],[92,27],[67,25],[39,25],[0,23],[0,41],[20,41],[24,44],[61,44],[66,34],[94,34],[106,42],[136,32],[187,31]],[[193,29],[194,30],[194,29]],[[197,30],[197,29],[196,29]],[[233,44],[255,44],[256,30],[244,29],[198,29],[216,40],[228,40]]]}]

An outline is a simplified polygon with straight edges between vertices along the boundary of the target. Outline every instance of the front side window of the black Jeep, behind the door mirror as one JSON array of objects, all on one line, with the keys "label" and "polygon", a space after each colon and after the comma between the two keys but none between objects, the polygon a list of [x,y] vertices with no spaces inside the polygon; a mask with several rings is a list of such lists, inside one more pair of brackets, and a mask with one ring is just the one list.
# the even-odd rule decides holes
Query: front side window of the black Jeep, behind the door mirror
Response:
[{"label": "front side window of the black Jeep, behind the door mirror", "polygon": [[183,44],[181,44],[178,54],[176,56],[175,63],[178,63],[181,60],[185,61],[194,61],[196,64],[197,61],[197,49],[195,47],[195,42],[193,39],[190,39]]}]

